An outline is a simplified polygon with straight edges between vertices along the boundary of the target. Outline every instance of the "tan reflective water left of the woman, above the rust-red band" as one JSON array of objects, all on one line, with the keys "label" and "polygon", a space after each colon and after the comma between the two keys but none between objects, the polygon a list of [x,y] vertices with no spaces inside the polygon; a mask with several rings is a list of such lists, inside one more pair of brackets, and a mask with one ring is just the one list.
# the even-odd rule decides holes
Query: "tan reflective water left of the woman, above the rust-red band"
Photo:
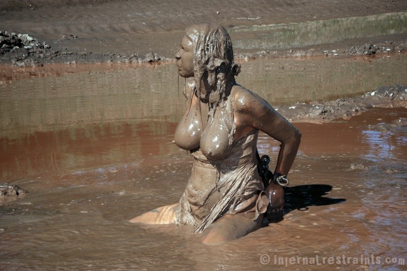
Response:
[{"label": "tan reflective water left of the woman, above the rust-red band", "polygon": [[142,65],[11,81],[0,85],[2,133],[13,137],[121,120],[175,122],[180,109],[176,78],[172,65]]}]

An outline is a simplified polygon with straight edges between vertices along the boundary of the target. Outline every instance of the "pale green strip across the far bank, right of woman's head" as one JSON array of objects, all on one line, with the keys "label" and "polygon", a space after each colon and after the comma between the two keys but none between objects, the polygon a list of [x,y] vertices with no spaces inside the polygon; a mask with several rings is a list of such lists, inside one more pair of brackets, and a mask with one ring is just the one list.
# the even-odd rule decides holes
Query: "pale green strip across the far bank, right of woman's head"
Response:
[{"label": "pale green strip across the far bank, right of woman's head", "polygon": [[[352,38],[407,33],[407,12],[299,23],[242,26],[228,30],[239,49],[286,49]],[[247,33],[240,39],[239,33]],[[236,37],[235,37],[236,36]]]}]

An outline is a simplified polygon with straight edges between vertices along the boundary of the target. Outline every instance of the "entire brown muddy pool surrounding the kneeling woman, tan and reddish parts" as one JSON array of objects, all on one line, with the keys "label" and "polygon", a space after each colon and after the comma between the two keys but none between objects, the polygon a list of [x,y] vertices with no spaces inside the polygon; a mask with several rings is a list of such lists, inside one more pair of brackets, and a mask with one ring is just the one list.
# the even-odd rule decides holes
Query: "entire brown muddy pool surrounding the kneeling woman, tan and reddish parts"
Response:
[{"label": "entire brown muddy pool surrounding the kneeling woman, tan and reddish parts", "polygon": [[[406,62],[256,60],[237,79],[278,107],[406,84]],[[2,269],[405,268],[406,131],[368,125],[407,109],[296,123],[284,220],[205,246],[189,227],[127,222],[177,202],[190,174],[171,143],[185,104],[173,64],[0,70],[0,182],[29,192],[0,205]],[[260,134],[258,149],[275,161],[278,143]]]}]

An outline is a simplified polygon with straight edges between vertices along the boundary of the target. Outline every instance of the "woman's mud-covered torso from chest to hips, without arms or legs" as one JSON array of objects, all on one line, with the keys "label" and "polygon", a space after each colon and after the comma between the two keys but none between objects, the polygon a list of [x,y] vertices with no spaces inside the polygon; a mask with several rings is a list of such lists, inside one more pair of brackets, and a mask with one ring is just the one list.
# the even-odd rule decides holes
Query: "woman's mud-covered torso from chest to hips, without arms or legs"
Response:
[{"label": "woman's mud-covered torso from chest to hips, without arms or legs", "polygon": [[216,110],[204,102],[199,108],[199,98],[190,91],[185,95],[188,107],[176,129],[175,141],[191,151],[194,165],[176,211],[176,223],[195,225],[195,231],[201,232],[224,214],[255,220],[264,212],[257,208],[261,205],[257,204],[259,191],[264,189],[255,158],[258,130],[234,140],[238,127],[232,101],[238,88],[232,88]]}]

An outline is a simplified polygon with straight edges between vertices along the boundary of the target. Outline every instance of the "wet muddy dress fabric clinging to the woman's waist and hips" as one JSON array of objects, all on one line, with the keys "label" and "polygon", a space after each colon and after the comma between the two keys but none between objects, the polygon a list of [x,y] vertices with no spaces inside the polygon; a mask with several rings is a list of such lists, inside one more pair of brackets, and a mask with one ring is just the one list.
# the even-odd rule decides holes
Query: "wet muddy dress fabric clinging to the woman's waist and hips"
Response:
[{"label": "wet muddy dress fabric clinging to the woman's waist and hips", "polygon": [[258,130],[231,145],[221,162],[210,160],[201,150],[192,151],[194,165],[176,211],[176,223],[195,225],[201,232],[224,214],[255,220],[261,210],[256,202],[264,189],[255,160]]}]

